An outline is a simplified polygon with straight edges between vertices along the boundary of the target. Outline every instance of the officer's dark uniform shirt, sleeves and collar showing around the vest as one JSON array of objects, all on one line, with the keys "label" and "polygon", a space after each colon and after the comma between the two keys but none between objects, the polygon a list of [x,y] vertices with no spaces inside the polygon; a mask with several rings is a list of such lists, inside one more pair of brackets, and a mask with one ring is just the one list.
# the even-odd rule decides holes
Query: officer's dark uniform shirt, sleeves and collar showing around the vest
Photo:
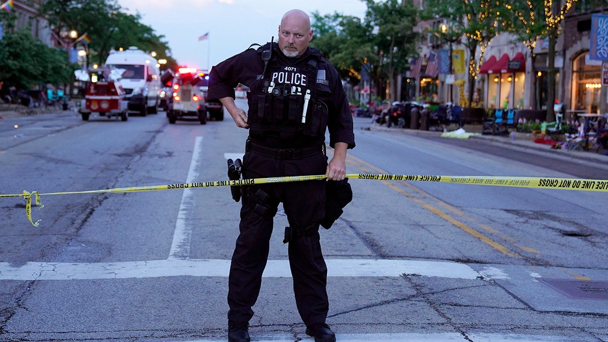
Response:
[{"label": "officer's dark uniform shirt, sleeves and collar showing around the vest", "polygon": [[[311,47],[308,47],[302,56],[297,58],[288,58],[278,51],[277,44],[272,54],[280,58],[287,65],[296,65],[299,61],[305,58],[311,58]],[[272,60],[269,62],[272,63]],[[331,99],[325,100],[328,106],[328,130],[330,131],[330,146],[334,147],[336,142],[346,142],[348,148],[354,147],[353,133],[353,117],[350,113],[348,100],[342,81],[336,68],[329,63],[325,58],[321,58],[321,63],[318,66],[319,70],[325,70],[326,79],[329,82],[331,89]],[[251,89],[258,86],[257,76],[264,71],[264,61],[261,55],[255,49],[247,49],[238,55],[228,58],[227,60],[213,66],[209,74],[209,91],[207,97],[209,99],[219,99],[222,97],[235,97],[234,88],[241,83]],[[325,137],[320,137],[322,141]]]}]

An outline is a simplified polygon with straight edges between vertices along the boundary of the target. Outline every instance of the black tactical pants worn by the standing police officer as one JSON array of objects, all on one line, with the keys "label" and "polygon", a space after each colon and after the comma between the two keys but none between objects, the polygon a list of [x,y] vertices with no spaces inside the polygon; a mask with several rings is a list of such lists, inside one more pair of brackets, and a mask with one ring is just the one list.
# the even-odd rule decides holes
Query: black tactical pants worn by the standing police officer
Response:
[{"label": "black tactical pants worn by the standing police officer", "polygon": [[[243,166],[244,178],[266,178],[323,175],[327,162],[322,152],[292,160],[248,152],[243,157]],[[245,187],[240,235],[230,265],[228,319],[249,321],[254,315],[251,307],[260,293],[273,217],[280,202],[289,226],[297,231],[297,236],[288,244],[288,255],[298,312],[307,325],[325,322],[329,310],[327,267],[319,243],[319,222],[325,216],[325,180]],[[256,204],[268,211],[264,212],[260,206],[254,210]]]}]

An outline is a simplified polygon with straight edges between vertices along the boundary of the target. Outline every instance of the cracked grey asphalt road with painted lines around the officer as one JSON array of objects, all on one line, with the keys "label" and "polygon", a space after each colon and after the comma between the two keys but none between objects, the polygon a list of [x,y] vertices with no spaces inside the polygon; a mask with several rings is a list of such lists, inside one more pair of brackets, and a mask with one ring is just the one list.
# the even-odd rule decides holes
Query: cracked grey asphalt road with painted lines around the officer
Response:
[{"label": "cracked grey asphalt road with painted lines around the officer", "polygon": [[[35,227],[23,198],[0,198],[0,340],[225,341],[229,189],[83,192],[225,180],[246,138],[226,118],[0,120],[0,194],[39,191],[45,205]],[[355,124],[348,173],[608,179],[601,164]],[[338,341],[608,341],[605,192],[350,183],[353,202],[321,232]],[[286,225],[279,211],[253,341],[312,341]]]}]

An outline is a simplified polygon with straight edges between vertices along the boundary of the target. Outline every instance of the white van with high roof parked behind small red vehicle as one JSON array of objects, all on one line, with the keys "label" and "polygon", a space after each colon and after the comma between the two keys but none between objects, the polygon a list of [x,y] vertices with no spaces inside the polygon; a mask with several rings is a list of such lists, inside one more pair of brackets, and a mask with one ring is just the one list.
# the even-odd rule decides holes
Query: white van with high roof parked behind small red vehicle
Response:
[{"label": "white van with high roof parked behind small red vehicle", "polygon": [[120,74],[128,110],[142,116],[155,114],[160,103],[161,80],[156,58],[131,46],[124,51],[111,51],[106,59],[105,74]]}]

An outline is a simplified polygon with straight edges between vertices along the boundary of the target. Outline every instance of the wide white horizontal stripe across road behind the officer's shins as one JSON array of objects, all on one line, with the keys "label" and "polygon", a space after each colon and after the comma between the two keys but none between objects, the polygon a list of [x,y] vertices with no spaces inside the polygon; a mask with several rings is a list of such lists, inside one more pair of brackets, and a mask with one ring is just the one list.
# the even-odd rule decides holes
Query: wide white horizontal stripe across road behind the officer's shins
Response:
[{"label": "wide white horizontal stripe across road behind the officer's shins", "polygon": [[[477,279],[480,274],[456,262],[420,260],[325,260],[330,277],[399,277],[418,274],[429,277]],[[64,263],[28,262],[20,267],[0,262],[0,280],[77,280],[154,277],[227,277],[230,260],[148,260],[131,262]],[[291,277],[288,260],[268,260],[264,277]]]}]

